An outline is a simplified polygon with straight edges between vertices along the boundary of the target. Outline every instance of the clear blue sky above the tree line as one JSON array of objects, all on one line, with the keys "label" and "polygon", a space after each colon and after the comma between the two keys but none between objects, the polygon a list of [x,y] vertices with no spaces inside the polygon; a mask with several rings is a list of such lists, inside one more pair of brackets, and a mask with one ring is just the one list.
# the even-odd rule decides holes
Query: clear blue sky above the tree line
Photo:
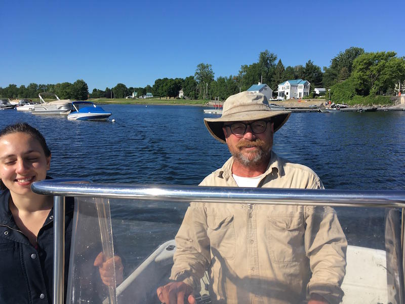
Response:
[{"label": "clear blue sky above the tree line", "polygon": [[[264,50],[285,66],[329,66],[352,46],[405,56],[405,22],[389,1],[0,1],[0,87],[123,83],[238,73]],[[398,15],[396,16],[396,12]],[[402,10],[402,11],[400,11]],[[277,60],[278,60],[277,59]]]}]

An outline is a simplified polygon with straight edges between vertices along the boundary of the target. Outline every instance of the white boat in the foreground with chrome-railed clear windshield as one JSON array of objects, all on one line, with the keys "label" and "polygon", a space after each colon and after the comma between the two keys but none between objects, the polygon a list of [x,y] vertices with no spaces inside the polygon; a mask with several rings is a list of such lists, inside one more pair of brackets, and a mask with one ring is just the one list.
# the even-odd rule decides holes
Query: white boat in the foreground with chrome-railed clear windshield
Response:
[{"label": "white boat in the foreground with chrome-railed clear windshield", "polygon": [[[83,183],[84,180],[43,180],[35,182],[35,193],[55,195],[54,225],[54,298],[63,302],[63,220],[62,197],[75,197],[75,214],[70,245],[69,279],[66,303],[158,303],[156,288],[169,282],[176,243],[169,240],[157,249],[157,233],[169,236],[177,230],[176,215],[181,216],[180,204],[190,201],[211,203],[270,205],[328,205],[345,207],[347,216],[355,224],[356,231],[343,227],[346,237],[354,236],[346,255],[346,275],[341,285],[344,291],[342,303],[404,303],[403,263],[403,218],[404,191],[339,191],[275,188],[221,188],[197,186],[131,185]],[[110,212],[110,206],[111,211]],[[160,207],[156,219],[145,217],[149,208]],[[304,207],[305,208],[305,207]],[[357,208],[357,210],[356,210]],[[126,210],[125,216],[117,210]],[[147,213],[149,211],[149,213]],[[175,211],[175,212],[173,212]],[[358,213],[364,215],[358,219]],[[367,212],[366,212],[367,211]],[[382,212],[381,212],[382,211]],[[382,213],[382,214],[381,214]],[[385,213],[385,216],[384,216]],[[357,215],[356,215],[357,214]],[[166,229],[159,224],[171,219]],[[347,218],[346,218],[347,220]],[[376,222],[378,225],[376,226]],[[118,236],[113,233],[117,233]],[[376,235],[378,234],[378,236]],[[308,236],[309,237],[309,236]],[[266,239],[266,238],[263,238]],[[349,240],[349,238],[348,238]],[[102,250],[107,257],[114,255],[116,248],[124,249],[117,255],[126,255],[124,282],[110,287],[108,291],[97,289],[98,268],[94,257]],[[153,248],[151,254],[141,254],[141,249]],[[118,250],[119,251],[119,250]],[[124,259],[125,260],[125,259]],[[140,262],[142,261],[143,262]],[[58,268],[58,266],[61,268]],[[288,267],[288,265],[286,265]],[[245,282],[240,292],[254,288],[255,279],[234,278]],[[211,303],[209,274],[201,278],[197,303]],[[215,282],[214,282],[215,284]],[[261,283],[259,283],[261,284]],[[251,287],[253,286],[253,287]],[[271,287],[269,282],[269,287]],[[246,287],[246,288],[245,288]],[[262,286],[261,286],[262,287]],[[257,289],[255,289],[257,290]],[[56,297],[55,297],[56,296]],[[104,298],[100,300],[99,297]]]}]

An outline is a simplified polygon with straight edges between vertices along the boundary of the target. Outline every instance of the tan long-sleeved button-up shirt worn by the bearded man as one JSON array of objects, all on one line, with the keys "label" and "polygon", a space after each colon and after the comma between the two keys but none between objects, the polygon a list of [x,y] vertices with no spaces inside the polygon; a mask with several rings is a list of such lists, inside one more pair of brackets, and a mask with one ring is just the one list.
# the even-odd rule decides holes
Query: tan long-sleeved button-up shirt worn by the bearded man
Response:
[{"label": "tan long-sleeved button-up shirt worn by the bearded man", "polygon": [[[200,185],[237,186],[232,157]],[[259,187],[323,189],[308,167],[271,155]],[[213,303],[301,303],[343,296],[347,242],[330,207],[191,203],[176,236],[172,280],[199,290],[208,269]]]}]

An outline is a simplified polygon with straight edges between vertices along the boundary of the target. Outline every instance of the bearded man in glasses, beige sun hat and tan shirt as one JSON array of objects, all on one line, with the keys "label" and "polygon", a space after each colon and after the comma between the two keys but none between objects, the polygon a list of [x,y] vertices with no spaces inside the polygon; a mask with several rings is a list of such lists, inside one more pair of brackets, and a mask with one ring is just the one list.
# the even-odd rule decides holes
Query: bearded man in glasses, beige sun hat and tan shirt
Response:
[{"label": "bearded man in glasses, beige sun hat and tan shirt", "polygon": [[[204,123],[232,157],[203,186],[323,189],[308,167],[272,151],[291,112],[271,111],[262,94],[241,92]],[[171,282],[161,302],[194,303],[208,270],[213,303],[339,303],[347,242],[329,207],[191,203],[176,236]]]}]

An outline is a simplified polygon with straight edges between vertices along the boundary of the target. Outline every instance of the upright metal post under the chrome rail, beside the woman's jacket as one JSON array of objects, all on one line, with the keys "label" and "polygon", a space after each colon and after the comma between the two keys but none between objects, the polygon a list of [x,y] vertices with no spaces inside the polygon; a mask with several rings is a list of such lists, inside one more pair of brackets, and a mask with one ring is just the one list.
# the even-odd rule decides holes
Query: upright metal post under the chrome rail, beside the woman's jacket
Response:
[{"label": "upright metal post under the chrome rail, beside the woman's jacket", "polygon": [[65,197],[54,197],[53,303],[63,304],[65,287]]}]

